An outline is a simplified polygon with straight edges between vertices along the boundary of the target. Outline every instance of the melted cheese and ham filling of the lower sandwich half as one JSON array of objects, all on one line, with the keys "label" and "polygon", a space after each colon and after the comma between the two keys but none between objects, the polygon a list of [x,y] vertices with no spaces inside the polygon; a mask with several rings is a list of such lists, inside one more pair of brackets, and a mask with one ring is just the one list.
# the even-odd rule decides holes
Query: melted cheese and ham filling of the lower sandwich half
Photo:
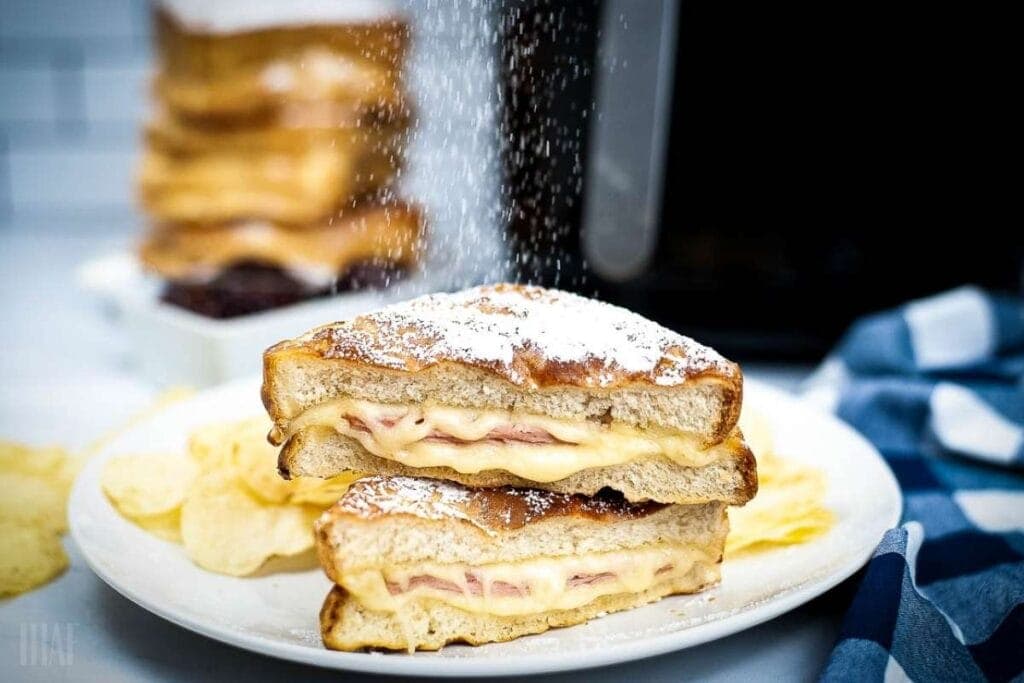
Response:
[{"label": "melted cheese and ham filling of the lower sandwich half", "polygon": [[[342,587],[366,607],[400,611],[436,600],[466,611],[509,616],[575,609],[605,595],[641,593],[718,557],[692,546],[658,545],[487,565],[417,563],[342,575]],[[714,569],[712,569],[714,571]]]}]

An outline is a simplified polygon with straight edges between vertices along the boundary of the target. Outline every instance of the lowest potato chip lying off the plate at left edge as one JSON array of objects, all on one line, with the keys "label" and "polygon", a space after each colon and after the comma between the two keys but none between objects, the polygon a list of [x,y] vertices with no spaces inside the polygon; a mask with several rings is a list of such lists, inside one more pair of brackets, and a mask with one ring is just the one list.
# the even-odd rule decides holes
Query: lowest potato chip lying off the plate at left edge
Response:
[{"label": "lowest potato chip lying off the plate at left edge", "polygon": [[68,555],[56,532],[0,519],[0,596],[32,590],[67,567]]}]

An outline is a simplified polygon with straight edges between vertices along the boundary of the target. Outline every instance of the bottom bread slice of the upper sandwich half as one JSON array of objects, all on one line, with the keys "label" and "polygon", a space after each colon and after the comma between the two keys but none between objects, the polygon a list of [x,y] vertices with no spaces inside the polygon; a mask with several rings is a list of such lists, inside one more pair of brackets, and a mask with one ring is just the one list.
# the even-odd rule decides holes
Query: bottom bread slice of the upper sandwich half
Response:
[{"label": "bottom bread slice of the upper sandwich half", "polygon": [[722,501],[743,505],[757,494],[757,464],[742,439],[731,455],[699,467],[686,467],[667,458],[583,470],[555,481],[539,482],[503,470],[463,473],[451,467],[410,467],[379,458],[358,441],[327,429],[305,429],[288,440],[278,467],[282,476],[329,478],[340,472],[447,479],[467,486],[523,486],[561,494],[593,496],[610,487],[629,501],[697,504]]}]

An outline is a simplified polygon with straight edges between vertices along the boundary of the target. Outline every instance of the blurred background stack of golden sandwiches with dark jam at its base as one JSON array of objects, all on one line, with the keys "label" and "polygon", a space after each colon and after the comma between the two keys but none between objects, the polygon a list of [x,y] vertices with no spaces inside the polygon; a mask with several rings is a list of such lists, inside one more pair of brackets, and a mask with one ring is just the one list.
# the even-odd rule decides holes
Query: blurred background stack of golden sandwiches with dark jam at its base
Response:
[{"label": "blurred background stack of golden sandwiches with dark jam at its base", "polygon": [[232,317],[384,287],[423,220],[397,200],[404,20],[379,2],[164,0],[141,246],[165,301]]}]

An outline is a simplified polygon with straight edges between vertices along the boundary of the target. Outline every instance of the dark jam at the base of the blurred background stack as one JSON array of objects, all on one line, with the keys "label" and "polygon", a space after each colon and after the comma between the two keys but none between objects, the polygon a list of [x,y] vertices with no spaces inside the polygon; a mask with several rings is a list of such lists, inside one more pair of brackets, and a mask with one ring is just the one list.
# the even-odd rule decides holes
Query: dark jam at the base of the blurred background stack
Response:
[{"label": "dark jam at the base of the blurred background stack", "polygon": [[238,263],[205,283],[168,283],[160,298],[194,313],[224,319],[341,292],[383,289],[406,274],[399,265],[358,263],[333,286],[314,287],[273,265]]}]

